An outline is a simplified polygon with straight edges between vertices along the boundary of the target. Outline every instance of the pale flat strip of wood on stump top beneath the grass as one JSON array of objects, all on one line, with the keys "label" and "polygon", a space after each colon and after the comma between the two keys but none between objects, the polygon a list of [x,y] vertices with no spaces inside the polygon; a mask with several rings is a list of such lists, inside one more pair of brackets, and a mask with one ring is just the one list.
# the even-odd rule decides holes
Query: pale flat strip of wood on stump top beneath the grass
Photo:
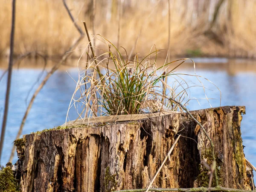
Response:
[{"label": "pale flat strip of wood on stump top beneath the grass", "polygon": [[61,126],[82,125],[82,124],[89,125],[91,123],[104,123],[104,122],[136,121],[140,119],[169,115],[172,113],[180,113],[180,112],[171,111],[171,112],[157,112],[157,113],[144,113],[144,114],[132,114],[132,115],[96,116],[91,118],[73,120],[73,121],[64,123]]}]

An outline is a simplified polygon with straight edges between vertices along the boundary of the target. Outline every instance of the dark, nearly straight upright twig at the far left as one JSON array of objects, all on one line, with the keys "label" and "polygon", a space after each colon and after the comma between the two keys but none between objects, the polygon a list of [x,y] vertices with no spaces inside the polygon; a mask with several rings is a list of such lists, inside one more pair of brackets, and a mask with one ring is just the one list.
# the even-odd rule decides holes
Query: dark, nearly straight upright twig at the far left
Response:
[{"label": "dark, nearly straight upright twig at the far left", "polygon": [[2,150],[3,150],[3,140],[6,131],[6,122],[8,116],[8,108],[9,108],[9,97],[10,97],[10,89],[11,89],[11,82],[12,82],[12,64],[13,64],[13,48],[14,48],[14,34],[15,34],[15,3],[16,0],[12,0],[12,29],[11,29],[11,36],[10,36],[10,55],[9,55],[9,67],[8,67],[8,79],[6,84],[6,98],[5,98],[5,107],[3,113],[3,124],[2,124],[2,131],[1,131],[1,140],[0,140],[0,160],[2,157]]}]

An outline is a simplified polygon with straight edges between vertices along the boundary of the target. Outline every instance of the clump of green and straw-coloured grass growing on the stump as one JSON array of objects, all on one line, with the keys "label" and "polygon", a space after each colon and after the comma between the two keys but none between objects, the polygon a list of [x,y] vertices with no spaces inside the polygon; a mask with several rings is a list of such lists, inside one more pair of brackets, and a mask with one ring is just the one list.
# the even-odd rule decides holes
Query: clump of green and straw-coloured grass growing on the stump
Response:
[{"label": "clump of green and straw-coloured grass growing on the stump", "polygon": [[110,41],[100,38],[108,48],[99,57],[90,58],[88,47],[86,67],[80,70],[73,104],[70,102],[77,110],[82,104],[80,118],[179,111],[169,98],[187,104],[189,84],[180,77],[182,74],[175,74],[187,58],[157,67],[160,50],[128,59],[124,48],[122,54]]}]

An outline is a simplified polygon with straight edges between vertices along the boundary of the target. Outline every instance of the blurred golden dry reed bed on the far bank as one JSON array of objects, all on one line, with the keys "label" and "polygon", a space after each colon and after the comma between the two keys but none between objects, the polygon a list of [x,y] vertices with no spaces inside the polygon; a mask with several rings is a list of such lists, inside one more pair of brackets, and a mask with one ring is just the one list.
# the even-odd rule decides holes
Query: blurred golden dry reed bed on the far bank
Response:
[{"label": "blurred golden dry reed bed on the far bank", "polygon": [[[159,49],[169,48],[172,56],[255,57],[256,1],[224,0],[211,28],[218,2],[170,0],[169,23],[168,0],[99,0],[92,22],[93,0],[67,0],[77,21],[86,20],[89,29],[94,27],[97,34],[126,47],[134,55],[138,39],[137,49],[144,56],[152,44],[157,44]],[[0,0],[0,5],[0,54],[3,56],[9,52],[11,1]],[[207,33],[210,28],[212,33]],[[16,55],[27,51],[62,55],[78,35],[61,0],[17,2]],[[104,46],[100,41],[95,43],[96,47]],[[73,54],[80,55],[79,51]]]}]

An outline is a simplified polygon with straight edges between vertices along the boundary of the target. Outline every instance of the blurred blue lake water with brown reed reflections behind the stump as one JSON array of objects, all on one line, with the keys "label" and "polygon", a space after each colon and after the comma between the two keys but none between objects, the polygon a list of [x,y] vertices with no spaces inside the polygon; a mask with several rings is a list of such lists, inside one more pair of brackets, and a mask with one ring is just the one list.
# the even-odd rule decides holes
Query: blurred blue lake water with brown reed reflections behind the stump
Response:
[{"label": "blurred blue lake water with brown reed reflections behind the stump", "polygon": [[[204,76],[212,81],[221,90],[221,105],[244,105],[246,114],[243,115],[241,122],[241,132],[243,138],[244,153],[246,158],[256,166],[256,61],[250,60],[229,60],[226,58],[195,58],[196,74]],[[67,64],[61,67],[52,75],[47,84],[38,94],[32,109],[26,120],[23,134],[29,134],[32,131],[39,131],[45,128],[53,128],[62,125],[65,122],[67,109],[76,87],[78,71],[76,67],[77,60],[67,61]],[[6,70],[8,61],[0,60],[0,77]],[[51,65],[51,64],[49,64]],[[9,105],[9,117],[4,140],[3,155],[1,165],[5,165],[10,156],[12,142],[15,140],[20,122],[26,110],[27,101],[34,93],[32,89],[28,96],[29,90],[38,80],[42,72],[42,63],[39,60],[26,60],[13,70],[12,87]],[[74,65],[73,65],[74,66]],[[49,71],[49,66],[47,69]],[[177,69],[177,73],[194,74],[192,63],[182,65]],[[43,73],[43,77],[46,71]],[[74,80],[70,77],[72,76]],[[187,81],[193,81],[200,85],[200,82],[191,76],[183,76]],[[42,79],[42,78],[41,78]],[[201,79],[206,89],[206,94],[212,107],[220,106],[220,96],[214,85]],[[7,75],[0,81],[0,125],[3,120],[3,108],[6,92]],[[38,83],[35,87],[38,86]],[[26,99],[28,96],[29,99]],[[191,98],[205,98],[202,87],[194,87],[190,90]],[[198,110],[209,108],[210,105],[206,99],[189,102],[189,110]],[[70,119],[76,119],[77,113],[71,110]],[[15,163],[17,157],[13,160]]]}]

